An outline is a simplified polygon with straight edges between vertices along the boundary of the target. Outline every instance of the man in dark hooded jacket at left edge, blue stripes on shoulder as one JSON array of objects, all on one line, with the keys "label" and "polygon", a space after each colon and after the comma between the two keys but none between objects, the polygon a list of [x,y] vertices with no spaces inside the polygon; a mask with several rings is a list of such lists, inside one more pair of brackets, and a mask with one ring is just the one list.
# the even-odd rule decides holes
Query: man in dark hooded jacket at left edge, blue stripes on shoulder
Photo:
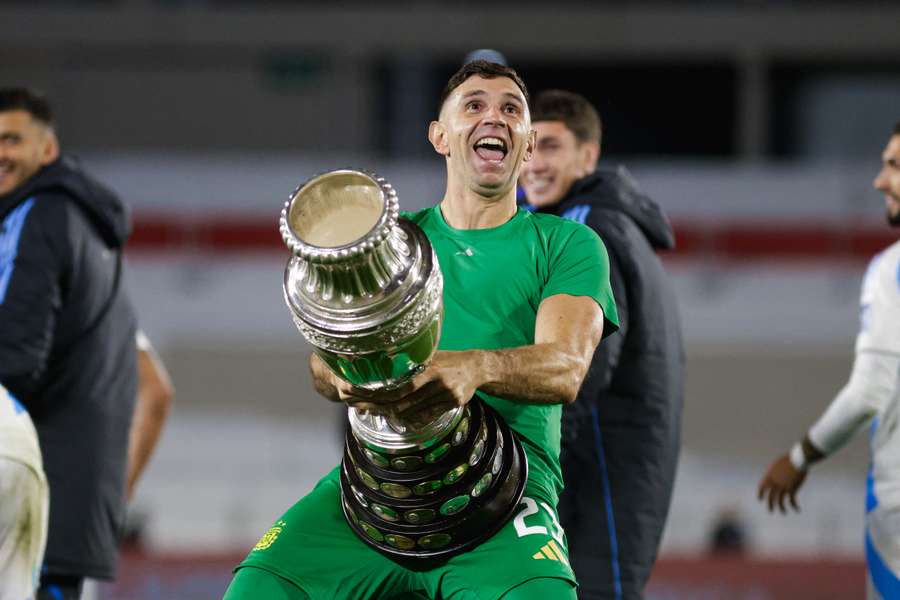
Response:
[{"label": "man in dark hooded jacket at left edge, blue stripes on shoulder", "polygon": [[38,598],[115,573],[137,384],[119,199],[61,158],[46,100],[0,89],[0,384],[30,413],[50,485]]}]

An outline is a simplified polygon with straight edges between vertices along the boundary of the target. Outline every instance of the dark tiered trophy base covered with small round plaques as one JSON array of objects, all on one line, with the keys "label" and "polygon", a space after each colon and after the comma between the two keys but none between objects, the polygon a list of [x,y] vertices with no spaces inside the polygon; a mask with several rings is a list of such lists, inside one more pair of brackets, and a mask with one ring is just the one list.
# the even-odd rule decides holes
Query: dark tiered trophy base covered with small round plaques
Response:
[{"label": "dark tiered trophy base covered with small round plaques", "polygon": [[384,455],[348,432],[341,500],[363,542],[424,570],[494,535],[515,511],[527,480],[521,443],[474,398],[453,431],[417,453]]}]

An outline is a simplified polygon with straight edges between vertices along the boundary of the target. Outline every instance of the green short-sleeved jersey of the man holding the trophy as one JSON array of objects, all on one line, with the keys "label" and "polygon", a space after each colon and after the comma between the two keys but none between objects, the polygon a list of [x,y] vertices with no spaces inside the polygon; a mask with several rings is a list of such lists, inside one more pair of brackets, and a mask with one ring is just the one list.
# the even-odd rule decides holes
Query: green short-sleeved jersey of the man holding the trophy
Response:
[{"label": "green short-sleeved jersey of the man holding the trophy", "polygon": [[[534,343],[540,303],[556,294],[589,296],[603,309],[603,335],[618,327],[609,287],[609,258],[592,229],[519,209],[499,227],[454,229],[440,206],[404,213],[425,231],[444,275],[439,348],[495,350]],[[560,405],[533,405],[479,395],[519,434],[529,480],[556,503]]]}]

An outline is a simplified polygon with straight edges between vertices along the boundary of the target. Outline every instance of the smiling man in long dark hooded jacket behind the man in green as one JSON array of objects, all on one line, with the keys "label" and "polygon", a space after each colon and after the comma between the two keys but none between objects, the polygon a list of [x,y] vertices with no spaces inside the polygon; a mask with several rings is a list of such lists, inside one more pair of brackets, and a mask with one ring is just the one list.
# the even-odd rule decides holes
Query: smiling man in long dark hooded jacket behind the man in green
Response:
[{"label": "smiling man in long dark hooded jacket behind the man in green", "polygon": [[601,125],[585,98],[550,90],[533,105],[537,146],[520,178],[528,205],[600,235],[620,319],[619,332],[597,349],[578,399],[565,407],[560,521],[579,598],[642,598],[680,444],[681,325],[656,255],[674,247],[674,234],[624,168],[595,170]]}]

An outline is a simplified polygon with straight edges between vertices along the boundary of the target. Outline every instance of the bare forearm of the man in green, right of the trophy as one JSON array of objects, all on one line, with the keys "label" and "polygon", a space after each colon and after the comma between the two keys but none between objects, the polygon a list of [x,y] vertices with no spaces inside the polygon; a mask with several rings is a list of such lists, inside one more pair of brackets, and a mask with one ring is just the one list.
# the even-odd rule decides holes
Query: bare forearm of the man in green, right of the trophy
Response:
[{"label": "bare forearm of the man in green, right of the trophy", "polygon": [[555,343],[476,352],[483,381],[478,388],[527,404],[574,402],[589,366],[583,353]]}]

